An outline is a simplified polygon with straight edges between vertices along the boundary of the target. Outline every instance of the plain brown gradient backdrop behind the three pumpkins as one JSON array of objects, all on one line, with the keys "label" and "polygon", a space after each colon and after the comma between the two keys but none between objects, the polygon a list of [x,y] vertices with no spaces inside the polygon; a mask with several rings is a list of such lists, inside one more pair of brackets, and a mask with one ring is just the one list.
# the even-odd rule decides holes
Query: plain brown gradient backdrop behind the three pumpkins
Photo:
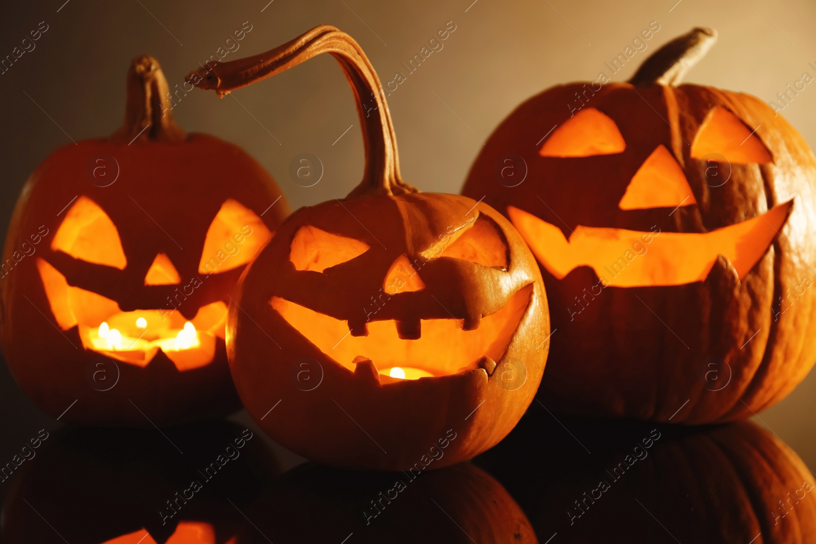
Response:
[{"label": "plain brown gradient backdrop behind the three pumpkins", "polygon": [[[459,192],[483,141],[512,108],[558,82],[592,81],[601,70],[609,73],[605,61],[652,20],[660,24],[659,32],[615,79],[628,78],[656,46],[698,25],[717,29],[720,38],[687,77],[690,82],[777,100],[776,94],[803,72],[816,75],[809,66],[816,64],[816,3],[806,0],[267,2],[4,2],[0,57],[11,54],[40,21],[48,30],[33,51],[0,75],[3,239],[17,194],[42,160],[72,139],[109,135],[120,126],[125,73],[133,57],[155,56],[171,87],[181,85],[245,21],[251,32],[225,60],[266,51],[317,24],[334,24],[360,42],[384,83],[394,73],[406,74],[388,97],[401,170],[410,184],[440,192]],[[408,73],[402,63],[449,21],[455,32],[444,48]],[[357,112],[330,56],[224,100],[190,92],[173,113],[184,130],[245,148],[277,179],[292,209],[344,196],[361,177]],[[811,145],[816,145],[814,113],[816,83],[783,111]],[[312,188],[290,179],[290,161],[299,153],[313,153],[325,167]],[[811,374],[758,421],[811,468],[816,467],[814,393],[816,375]],[[0,365],[0,414],[2,463],[39,429],[59,426],[23,396],[5,365]],[[249,422],[245,413],[233,418]],[[278,451],[286,466],[300,461]],[[0,483],[0,497],[6,487]]]}]

